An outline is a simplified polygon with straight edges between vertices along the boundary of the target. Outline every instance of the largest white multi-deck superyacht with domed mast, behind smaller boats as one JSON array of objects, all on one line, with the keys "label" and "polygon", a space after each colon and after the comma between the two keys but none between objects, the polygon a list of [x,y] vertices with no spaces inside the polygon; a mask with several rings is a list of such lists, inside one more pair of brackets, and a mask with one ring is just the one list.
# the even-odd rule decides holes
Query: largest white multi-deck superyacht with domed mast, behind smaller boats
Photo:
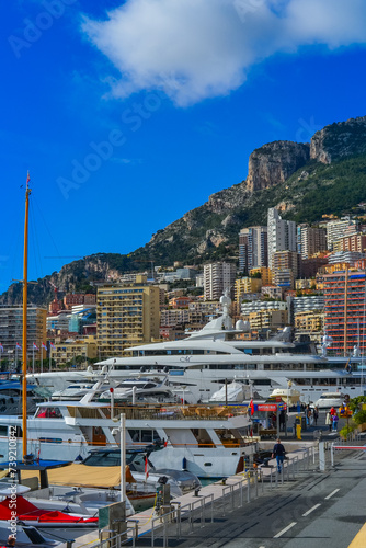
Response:
[{"label": "largest white multi-deck superyacht with domed mast, behind smaller boats", "polygon": [[[145,344],[128,349],[128,355],[100,362],[104,375],[122,380],[129,376],[169,375],[169,384],[185,401],[207,401],[227,380],[252,387],[252,393],[267,398],[275,389],[289,386],[300,392],[304,402],[318,400],[327,391],[342,391],[351,398],[366,393],[363,358],[331,357],[325,344],[322,355],[308,340],[290,341],[285,328],[271,340],[244,340],[248,326],[232,326],[230,299],[220,299],[222,316],[201,331],[181,341]],[[49,389],[77,379],[95,379],[101,370],[44,373],[32,375],[36,383]]]}]

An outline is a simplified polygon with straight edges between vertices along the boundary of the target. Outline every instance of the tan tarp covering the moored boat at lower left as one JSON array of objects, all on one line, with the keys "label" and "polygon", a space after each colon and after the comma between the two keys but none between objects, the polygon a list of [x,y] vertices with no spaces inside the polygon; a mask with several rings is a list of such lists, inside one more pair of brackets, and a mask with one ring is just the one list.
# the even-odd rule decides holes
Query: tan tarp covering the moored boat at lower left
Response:
[{"label": "tan tarp covering the moored boat at lower left", "polygon": [[[22,479],[32,478],[35,472],[22,470]],[[90,487],[108,489],[121,484],[119,466],[85,466],[72,463],[64,468],[47,470],[50,486]],[[126,482],[135,482],[126,466]]]}]

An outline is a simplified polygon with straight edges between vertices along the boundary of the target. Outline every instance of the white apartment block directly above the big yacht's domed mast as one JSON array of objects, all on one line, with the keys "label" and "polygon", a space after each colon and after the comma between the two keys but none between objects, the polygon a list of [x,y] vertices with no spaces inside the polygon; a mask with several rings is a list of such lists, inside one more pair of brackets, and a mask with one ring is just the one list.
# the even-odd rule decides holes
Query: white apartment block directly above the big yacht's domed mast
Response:
[{"label": "white apartment block directly above the big yacht's domed mast", "polygon": [[226,289],[232,292],[237,275],[233,263],[209,263],[204,265],[204,294],[205,300],[216,300],[224,295]]}]

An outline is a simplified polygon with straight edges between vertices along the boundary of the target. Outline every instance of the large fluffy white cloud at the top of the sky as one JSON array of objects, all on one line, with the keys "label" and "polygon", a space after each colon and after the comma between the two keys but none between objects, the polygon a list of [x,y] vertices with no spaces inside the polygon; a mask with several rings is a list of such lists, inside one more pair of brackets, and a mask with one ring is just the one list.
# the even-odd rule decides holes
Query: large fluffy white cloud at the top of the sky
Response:
[{"label": "large fluffy white cloud at the top of the sky", "polygon": [[159,89],[178,105],[226,95],[279,52],[366,42],[365,0],[126,0],[83,32],[121,72],[112,93]]}]

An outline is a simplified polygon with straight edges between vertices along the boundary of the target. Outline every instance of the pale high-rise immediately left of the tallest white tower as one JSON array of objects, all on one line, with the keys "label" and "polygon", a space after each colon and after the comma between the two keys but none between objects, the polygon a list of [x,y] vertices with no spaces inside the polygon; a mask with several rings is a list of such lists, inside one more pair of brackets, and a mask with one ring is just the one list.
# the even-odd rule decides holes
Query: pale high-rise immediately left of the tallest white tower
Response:
[{"label": "pale high-rise immediately left of the tallest white tower", "polygon": [[239,270],[249,273],[268,265],[267,227],[249,227],[239,232]]}]

